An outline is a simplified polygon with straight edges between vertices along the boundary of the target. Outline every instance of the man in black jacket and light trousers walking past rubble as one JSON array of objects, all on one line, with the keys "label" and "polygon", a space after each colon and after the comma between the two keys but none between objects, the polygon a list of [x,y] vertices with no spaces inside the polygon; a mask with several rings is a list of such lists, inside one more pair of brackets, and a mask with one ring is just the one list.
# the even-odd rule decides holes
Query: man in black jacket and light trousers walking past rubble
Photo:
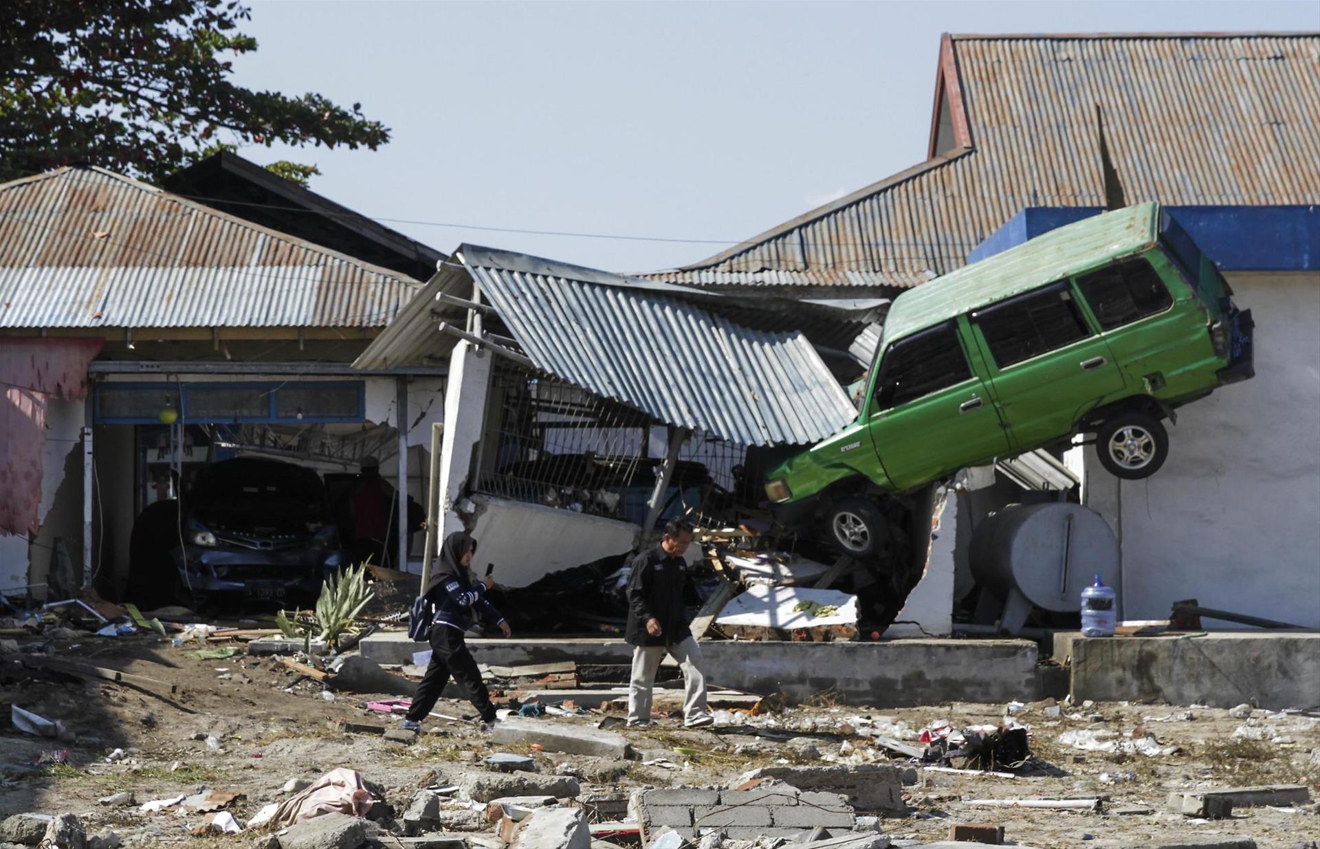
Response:
[{"label": "man in black jacket and light trousers walking past rubble", "polygon": [[628,725],[651,725],[651,687],[665,654],[682,669],[685,697],[684,725],[700,728],[714,720],[706,709],[706,675],[701,648],[692,638],[692,622],[682,606],[682,589],[688,581],[688,561],[682,559],[692,544],[692,527],[673,519],[664,528],[664,537],[651,551],[632,560],[628,576],[628,630],[632,646],[632,680],[628,684]]}]

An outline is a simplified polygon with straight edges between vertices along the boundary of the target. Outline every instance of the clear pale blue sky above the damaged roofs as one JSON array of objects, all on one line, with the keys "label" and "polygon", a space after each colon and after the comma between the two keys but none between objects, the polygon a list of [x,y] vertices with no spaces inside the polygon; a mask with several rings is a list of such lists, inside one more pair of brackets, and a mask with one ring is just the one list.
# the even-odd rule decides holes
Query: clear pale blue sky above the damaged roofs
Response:
[{"label": "clear pale blue sky above the damaged roofs", "polygon": [[1316,0],[248,5],[238,82],[360,100],[393,141],[243,156],[314,162],[315,191],[442,251],[611,271],[701,260],[921,161],[944,32],[1320,29]]}]

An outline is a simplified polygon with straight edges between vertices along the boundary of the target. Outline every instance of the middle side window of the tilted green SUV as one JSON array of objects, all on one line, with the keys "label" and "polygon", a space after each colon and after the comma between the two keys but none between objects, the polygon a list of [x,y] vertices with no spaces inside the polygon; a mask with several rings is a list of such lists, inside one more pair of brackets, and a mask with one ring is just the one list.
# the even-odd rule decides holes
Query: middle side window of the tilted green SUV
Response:
[{"label": "middle side window of the tilted green SUV", "polygon": [[981,326],[999,368],[1090,335],[1067,280],[979,309],[972,320]]}]

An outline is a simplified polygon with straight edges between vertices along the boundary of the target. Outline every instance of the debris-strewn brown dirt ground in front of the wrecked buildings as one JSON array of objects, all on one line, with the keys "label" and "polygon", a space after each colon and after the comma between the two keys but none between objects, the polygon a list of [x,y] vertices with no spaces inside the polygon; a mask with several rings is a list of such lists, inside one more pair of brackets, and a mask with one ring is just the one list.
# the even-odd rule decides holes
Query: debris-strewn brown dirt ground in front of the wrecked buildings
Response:
[{"label": "debris-strewn brown dirt ground in front of the wrecked buildings", "polygon": [[[48,640],[49,643],[49,640]],[[32,647],[29,646],[29,650]],[[253,837],[198,838],[191,829],[203,815],[148,815],[133,807],[104,807],[98,799],[132,791],[136,803],[195,792],[198,787],[236,791],[243,798],[231,808],[239,820],[285,798],[282,786],[294,778],[314,779],[335,767],[358,770],[384,790],[385,803],[401,817],[418,783],[430,772],[457,779],[470,762],[492,751],[488,735],[465,722],[437,721],[412,745],[391,743],[379,735],[350,734],[331,725],[337,720],[388,724],[366,710],[366,695],[333,693],[325,685],[285,668],[275,658],[247,655],[203,660],[190,656],[194,646],[174,647],[154,636],[96,638],[75,634],[55,640],[46,656],[70,658],[177,685],[173,696],[156,696],[110,681],[87,683],[32,671],[21,655],[0,656],[0,702],[16,704],[48,720],[62,721],[78,742],[61,743],[32,737],[13,728],[0,729],[0,815],[74,813],[88,834],[106,828],[127,845],[251,845]],[[664,720],[645,731],[624,735],[644,759],[667,758],[678,768],[631,762],[618,784],[624,792],[651,786],[727,786],[744,771],[775,763],[849,763],[888,761],[862,731],[906,724],[919,730],[937,718],[954,726],[998,724],[1005,705],[950,704],[927,708],[874,710],[830,705],[787,708],[755,720],[768,730],[797,733],[799,739],[756,737],[738,725],[685,730],[677,720]],[[436,708],[454,716],[471,713],[466,704],[441,701]],[[721,714],[722,720],[727,720]],[[1007,840],[1039,848],[1084,848],[1097,841],[1160,846],[1175,841],[1209,842],[1214,838],[1254,838],[1262,849],[1286,849],[1320,838],[1315,803],[1300,808],[1245,808],[1230,820],[1199,821],[1166,812],[1173,790],[1300,783],[1320,791],[1320,720],[1300,714],[1255,713],[1233,718],[1210,708],[1097,704],[1064,706],[1059,717],[1040,709],[1018,713],[1031,729],[1036,759],[1055,774],[995,778],[952,775],[919,770],[919,780],[906,788],[907,817],[883,820],[894,837],[942,840],[949,824],[993,823],[1005,827]],[[598,722],[598,714],[545,717],[545,722]],[[902,726],[899,726],[902,728]],[[1152,734],[1170,754],[1147,757],[1081,751],[1060,743],[1069,730],[1111,731],[1113,741]],[[1238,733],[1234,737],[1234,733]],[[219,751],[207,747],[214,734]],[[812,739],[803,739],[810,737]],[[685,750],[676,753],[675,747]],[[44,751],[67,749],[67,764],[34,766]],[[108,762],[115,749],[124,759]],[[500,747],[531,754],[540,771],[554,772],[564,761],[583,758]],[[898,759],[900,766],[911,762]],[[583,786],[583,791],[589,788]],[[602,790],[594,787],[593,790]],[[973,799],[1104,798],[1105,813],[974,808]],[[1316,796],[1313,796],[1315,799]],[[1119,815],[1123,805],[1147,805],[1151,813]],[[484,832],[487,837],[492,832]]]}]

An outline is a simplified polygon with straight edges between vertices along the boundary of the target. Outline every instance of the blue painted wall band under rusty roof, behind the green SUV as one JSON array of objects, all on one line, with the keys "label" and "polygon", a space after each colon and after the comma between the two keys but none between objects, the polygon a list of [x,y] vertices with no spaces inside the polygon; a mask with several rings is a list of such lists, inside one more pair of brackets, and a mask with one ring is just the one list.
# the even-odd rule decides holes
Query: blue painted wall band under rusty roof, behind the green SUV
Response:
[{"label": "blue painted wall band under rusty roof, behind the green SUV", "polygon": [[[1320,269],[1317,206],[1170,206],[1170,215],[1220,271]],[[969,263],[1102,210],[1096,206],[1028,206],[978,244]]]}]

